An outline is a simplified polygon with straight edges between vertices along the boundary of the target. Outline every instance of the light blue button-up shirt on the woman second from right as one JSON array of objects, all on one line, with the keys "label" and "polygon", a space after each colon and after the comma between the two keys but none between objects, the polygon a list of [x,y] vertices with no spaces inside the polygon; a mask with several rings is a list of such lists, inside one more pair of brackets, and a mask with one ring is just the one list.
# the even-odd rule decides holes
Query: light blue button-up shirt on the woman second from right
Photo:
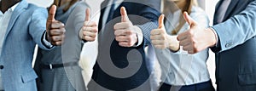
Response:
[{"label": "light blue button-up shirt on the woman second from right", "polygon": [[[166,18],[165,26],[168,34],[178,26],[181,11],[170,13]],[[208,27],[207,14],[198,7],[193,7],[190,16],[198,22],[199,26]],[[177,34],[189,29],[184,24]],[[172,53],[169,49],[155,49],[161,67],[161,80],[170,85],[183,86],[199,82],[207,82],[210,75],[207,70],[208,49],[197,54],[183,54],[183,51]]]}]

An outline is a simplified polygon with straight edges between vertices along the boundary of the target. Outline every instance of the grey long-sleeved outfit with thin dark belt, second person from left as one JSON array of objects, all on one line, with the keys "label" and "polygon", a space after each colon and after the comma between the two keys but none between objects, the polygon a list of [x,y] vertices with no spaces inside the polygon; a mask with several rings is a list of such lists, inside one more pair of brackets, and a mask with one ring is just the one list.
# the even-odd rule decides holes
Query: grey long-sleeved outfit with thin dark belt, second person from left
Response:
[{"label": "grey long-sleeved outfit with thin dark belt, second person from left", "polygon": [[63,13],[60,7],[57,9],[55,19],[65,24],[66,33],[62,46],[52,50],[38,50],[35,70],[38,73],[39,91],[84,91],[85,85],[80,66],[65,66],[52,70],[40,68],[40,65],[62,64],[78,62],[83,47],[79,38],[79,31],[84,25],[85,9],[89,6],[84,1],[74,3]]}]

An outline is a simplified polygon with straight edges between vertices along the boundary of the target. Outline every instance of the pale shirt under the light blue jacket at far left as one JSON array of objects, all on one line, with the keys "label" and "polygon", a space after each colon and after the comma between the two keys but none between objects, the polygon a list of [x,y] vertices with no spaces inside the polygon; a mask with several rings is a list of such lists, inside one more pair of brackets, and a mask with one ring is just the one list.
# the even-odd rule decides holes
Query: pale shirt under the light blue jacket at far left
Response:
[{"label": "pale shirt under the light blue jacket at far left", "polygon": [[[5,39],[5,34],[7,31],[7,27],[9,25],[9,20],[18,4],[19,3],[16,3],[13,7],[8,9],[4,14],[2,11],[0,11],[0,56],[2,54],[3,41]],[[1,71],[0,71],[0,90],[2,89],[3,89],[3,82],[2,82]]]}]

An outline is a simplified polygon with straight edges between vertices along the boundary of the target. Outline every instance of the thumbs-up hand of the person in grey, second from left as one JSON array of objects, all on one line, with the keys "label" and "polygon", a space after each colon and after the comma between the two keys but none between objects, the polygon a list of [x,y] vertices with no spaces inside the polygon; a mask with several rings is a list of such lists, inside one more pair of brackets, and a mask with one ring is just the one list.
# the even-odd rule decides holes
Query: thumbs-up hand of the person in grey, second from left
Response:
[{"label": "thumbs-up hand of the person in grey, second from left", "polygon": [[79,37],[85,41],[92,42],[96,40],[98,26],[96,22],[90,21],[90,9],[86,9],[85,15],[84,26],[80,30]]}]

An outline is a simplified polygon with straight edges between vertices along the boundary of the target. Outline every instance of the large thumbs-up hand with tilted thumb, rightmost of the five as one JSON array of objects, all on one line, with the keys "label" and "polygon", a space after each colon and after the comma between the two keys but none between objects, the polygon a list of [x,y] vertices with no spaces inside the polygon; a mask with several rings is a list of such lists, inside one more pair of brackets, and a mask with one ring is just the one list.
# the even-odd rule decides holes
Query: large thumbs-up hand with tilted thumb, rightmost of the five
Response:
[{"label": "large thumbs-up hand with tilted thumb, rightmost of the five", "polygon": [[208,28],[204,29],[197,25],[187,12],[183,13],[184,20],[189,23],[190,29],[177,36],[180,46],[189,54],[195,54],[201,50],[212,47],[217,40],[214,32]]}]

